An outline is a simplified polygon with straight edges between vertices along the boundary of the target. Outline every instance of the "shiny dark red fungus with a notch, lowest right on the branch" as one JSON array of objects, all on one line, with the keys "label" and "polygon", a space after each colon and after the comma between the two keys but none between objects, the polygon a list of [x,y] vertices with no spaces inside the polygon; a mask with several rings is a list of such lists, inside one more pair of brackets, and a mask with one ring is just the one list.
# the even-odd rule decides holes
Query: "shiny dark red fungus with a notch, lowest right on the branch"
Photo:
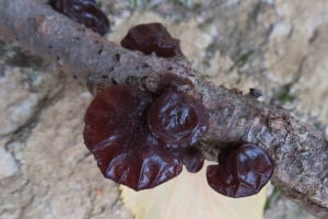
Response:
[{"label": "shiny dark red fungus with a notch, lowest right on the branch", "polygon": [[219,155],[218,165],[209,165],[207,180],[218,193],[229,197],[257,194],[269,181],[273,162],[261,148],[243,143]]}]

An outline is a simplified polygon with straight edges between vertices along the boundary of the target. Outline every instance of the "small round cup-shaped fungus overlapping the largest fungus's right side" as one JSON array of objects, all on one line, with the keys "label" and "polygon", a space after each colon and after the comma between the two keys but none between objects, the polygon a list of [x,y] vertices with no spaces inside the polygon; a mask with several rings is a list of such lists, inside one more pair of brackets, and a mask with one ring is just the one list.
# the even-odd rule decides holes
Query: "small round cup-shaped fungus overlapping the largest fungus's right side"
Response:
[{"label": "small round cup-shaped fungus overlapping the largest fungus's right side", "polygon": [[194,146],[208,129],[202,103],[183,92],[168,90],[151,105],[148,123],[167,147]]}]

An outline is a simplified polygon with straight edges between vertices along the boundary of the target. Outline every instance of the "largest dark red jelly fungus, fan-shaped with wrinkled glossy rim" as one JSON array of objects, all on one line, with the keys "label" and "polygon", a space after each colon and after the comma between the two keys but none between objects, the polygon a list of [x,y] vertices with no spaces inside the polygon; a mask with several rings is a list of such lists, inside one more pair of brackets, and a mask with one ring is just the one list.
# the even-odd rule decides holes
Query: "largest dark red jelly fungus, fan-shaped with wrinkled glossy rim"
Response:
[{"label": "largest dark red jelly fungus, fan-shaped with wrinkled glossy rim", "polygon": [[115,85],[92,101],[84,118],[84,141],[103,175],[136,191],[164,183],[183,169],[180,159],[148,128],[151,103],[139,89]]}]

